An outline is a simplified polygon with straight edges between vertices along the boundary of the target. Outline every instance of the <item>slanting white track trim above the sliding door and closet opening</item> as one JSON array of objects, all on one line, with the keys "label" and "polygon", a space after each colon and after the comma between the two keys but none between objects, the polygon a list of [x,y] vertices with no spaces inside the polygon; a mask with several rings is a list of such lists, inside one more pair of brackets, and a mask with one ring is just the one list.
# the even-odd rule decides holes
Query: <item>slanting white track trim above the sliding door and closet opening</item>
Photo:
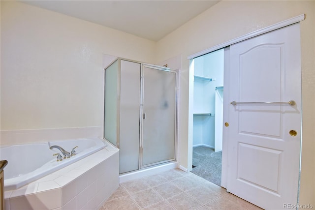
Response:
[{"label": "slanting white track trim above the sliding door and closet opening", "polygon": [[198,53],[192,54],[192,55],[188,56],[187,59],[189,60],[189,59],[197,58],[199,56],[205,55],[207,53],[211,53],[213,51],[219,50],[221,48],[224,48],[224,47],[229,46],[231,44],[235,44],[235,43],[240,42],[240,41],[244,41],[244,40],[252,38],[254,36],[258,36],[258,35],[261,35],[263,33],[270,32],[272,30],[277,30],[277,29],[289,26],[291,24],[298,23],[300,21],[303,21],[304,19],[305,19],[305,14],[298,15],[296,17],[284,20],[282,22],[276,23],[274,25],[268,26],[268,27],[260,29],[260,30],[255,30],[253,32],[250,32],[250,33],[245,34],[243,36],[240,36],[238,38],[232,39],[230,41],[224,42],[222,44],[219,44],[219,45],[216,45],[214,47],[208,48],[206,50],[200,51]]}]

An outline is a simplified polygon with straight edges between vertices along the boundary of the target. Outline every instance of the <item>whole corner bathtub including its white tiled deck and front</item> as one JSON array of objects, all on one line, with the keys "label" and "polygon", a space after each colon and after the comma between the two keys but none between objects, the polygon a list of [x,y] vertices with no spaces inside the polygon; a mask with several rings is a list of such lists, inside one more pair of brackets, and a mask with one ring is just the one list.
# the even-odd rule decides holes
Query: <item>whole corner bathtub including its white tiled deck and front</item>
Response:
[{"label": "whole corner bathtub including its white tiled deck and front", "polygon": [[[78,148],[57,162],[52,145]],[[5,146],[0,156],[8,160],[5,210],[98,209],[119,184],[119,150],[98,138]]]}]

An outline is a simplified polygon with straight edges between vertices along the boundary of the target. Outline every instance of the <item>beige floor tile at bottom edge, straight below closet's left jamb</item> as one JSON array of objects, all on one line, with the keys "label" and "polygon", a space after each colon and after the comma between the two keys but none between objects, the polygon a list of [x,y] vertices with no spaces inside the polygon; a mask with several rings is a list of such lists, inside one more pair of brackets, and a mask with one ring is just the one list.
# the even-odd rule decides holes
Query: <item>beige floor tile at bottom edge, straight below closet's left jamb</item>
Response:
[{"label": "beige floor tile at bottom edge, straight below closet's left jamb", "polygon": [[196,210],[203,206],[203,204],[191,198],[185,192],[169,198],[166,201],[177,210]]}]

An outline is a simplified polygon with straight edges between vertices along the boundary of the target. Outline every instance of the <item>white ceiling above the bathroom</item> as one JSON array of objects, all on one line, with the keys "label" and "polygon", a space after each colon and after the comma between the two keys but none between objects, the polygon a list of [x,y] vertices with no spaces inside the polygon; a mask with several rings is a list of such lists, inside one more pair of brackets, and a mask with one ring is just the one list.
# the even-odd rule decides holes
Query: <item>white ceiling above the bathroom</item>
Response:
[{"label": "white ceiling above the bathroom", "polygon": [[158,41],[218,0],[23,0],[112,29]]}]

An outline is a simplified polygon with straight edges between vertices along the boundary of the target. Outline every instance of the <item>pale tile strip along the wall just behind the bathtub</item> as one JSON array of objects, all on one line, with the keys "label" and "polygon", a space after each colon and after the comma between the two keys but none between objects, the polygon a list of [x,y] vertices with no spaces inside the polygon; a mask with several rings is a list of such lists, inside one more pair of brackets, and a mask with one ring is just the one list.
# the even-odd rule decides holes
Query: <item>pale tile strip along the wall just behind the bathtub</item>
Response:
[{"label": "pale tile strip along the wall just behind the bathtub", "polygon": [[65,139],[102,138],[102,126],[2,130],[1,145],[29,144]]}]

